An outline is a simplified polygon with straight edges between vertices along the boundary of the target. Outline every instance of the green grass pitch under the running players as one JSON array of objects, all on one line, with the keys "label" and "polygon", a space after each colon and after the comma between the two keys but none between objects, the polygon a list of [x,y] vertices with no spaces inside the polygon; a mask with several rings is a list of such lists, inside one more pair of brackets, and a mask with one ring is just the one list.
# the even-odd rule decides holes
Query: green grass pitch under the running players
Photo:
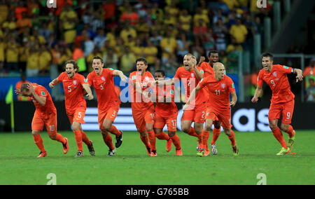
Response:
[{"label": "green grass pitch under the running players", "polygon": [[[56,175],[57,184],[252,184],[266,175],[267,184],[315,184],[314,130],[297,130],[295,156],[276,156],[281,146],[271,132],[235,132],[240,156],[232,156],[230,140],[223,132],[218,139],[218,155],[197,157],[197,139],[183,132],[183,156],[165,151],[166,142],[157,140],[158,157],[146,153],[138,132],[124,132],[116,156],[107,157],[108,148],[100,132],[86,132],[94,143],[95,157],[83,144],[85,156],[74,158],[73,132],[60,132],[69,139],[69,153],[62,144],[42,132],[48,156],[36,158],[38,149],[30,132],[0,133],[0,184],[47,184],[47,175]],[[285,139],[288,135],[283,133]],[[115,137],[113,137],[113,142]],[[210,136],[211,137],[211,136]]]}]

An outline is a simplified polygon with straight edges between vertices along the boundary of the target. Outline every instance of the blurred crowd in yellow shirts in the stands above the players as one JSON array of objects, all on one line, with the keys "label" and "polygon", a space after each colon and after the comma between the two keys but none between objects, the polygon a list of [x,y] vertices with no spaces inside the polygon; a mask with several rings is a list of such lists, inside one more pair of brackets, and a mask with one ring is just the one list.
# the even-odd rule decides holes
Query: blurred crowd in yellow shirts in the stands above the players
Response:
[{"label": "blurred crowd in yellow shirts in the stands above the players", "polygon": [[95,55],[126,75],[141,56],[149,70],[174,75],[183,55],[207,57],[210,50],[236,74],[235,52],[253,48],[272,2],[258,10],[256,0],[58,0],[57,8],[47,0],[1,0],[1,76],[48,75],[70,59],[89,72]]}]

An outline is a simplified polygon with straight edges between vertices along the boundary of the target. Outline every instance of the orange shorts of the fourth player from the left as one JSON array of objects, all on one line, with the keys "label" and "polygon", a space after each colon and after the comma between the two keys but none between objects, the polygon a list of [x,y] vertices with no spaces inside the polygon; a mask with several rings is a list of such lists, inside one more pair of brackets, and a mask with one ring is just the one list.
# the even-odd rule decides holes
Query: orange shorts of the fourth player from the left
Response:
[{"label": "orange shorts of the fourth player from the left", "polygon": [[134,111],[132,110],[132,117],[134,118],[134,124],[138,132],[146,132],[146,124],[154,124],[155,123],[155,111],[150,108],[146,111]]}]

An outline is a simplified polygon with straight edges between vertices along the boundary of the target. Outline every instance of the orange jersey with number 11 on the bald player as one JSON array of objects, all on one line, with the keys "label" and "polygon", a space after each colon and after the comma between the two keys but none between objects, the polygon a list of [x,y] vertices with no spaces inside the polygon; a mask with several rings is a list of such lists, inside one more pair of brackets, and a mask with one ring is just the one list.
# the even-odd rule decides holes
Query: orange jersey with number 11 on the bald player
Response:
[{"label": "orange jersey with number 11 on the bald player", "polygon": [[230,111],[230,92],[235,92],[232,78],[225,75],[223,79],[217,81],[214,76],[207,76],[200,81],[199,86],[200,88],[207,86],[212,109]]}]

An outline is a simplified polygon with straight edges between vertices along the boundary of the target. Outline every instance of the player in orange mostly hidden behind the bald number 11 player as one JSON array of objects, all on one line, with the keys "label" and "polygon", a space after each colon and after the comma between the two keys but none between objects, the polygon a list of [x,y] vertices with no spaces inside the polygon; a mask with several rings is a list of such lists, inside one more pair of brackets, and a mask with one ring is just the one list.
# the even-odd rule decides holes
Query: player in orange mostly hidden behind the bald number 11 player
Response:
[{"label": "player in orange mostly hidden behind the bald number 11 player", "polygon": [[[216,50],[211,50],[209,52],[208,59],[209,59],[209,62],[203,62],[205,58],[200,57],[200,67],[204,71],[204,77],[214,75],[214,69],[212,66],[214,65],[214,63],[218,62],[218,52]],[[209,90],[206,89],[205,91],[207,93],[207,96],[209,96]],[[211,111],[211,107],[214,105],[214,103],[211,103],[209,97],[207,98],[208,98],[208,101],[207,101],[206,115],[209,115],[209,112]],[[206,151],[204,152],[205,156],[209,155],[209,147],[208,147],[209,133],[210,133],[209,131],[202,130],[202,142],[204,142],[202,144],[206,146]],[[220,133],[221,133],[221,123],[218,121],[218,118],[214,118],[214,130],[213,130],[212,141],[211,141],[211,152],[214,155],[218,154],[218,150],[216,149],[216,140],[218,139]]]}]

